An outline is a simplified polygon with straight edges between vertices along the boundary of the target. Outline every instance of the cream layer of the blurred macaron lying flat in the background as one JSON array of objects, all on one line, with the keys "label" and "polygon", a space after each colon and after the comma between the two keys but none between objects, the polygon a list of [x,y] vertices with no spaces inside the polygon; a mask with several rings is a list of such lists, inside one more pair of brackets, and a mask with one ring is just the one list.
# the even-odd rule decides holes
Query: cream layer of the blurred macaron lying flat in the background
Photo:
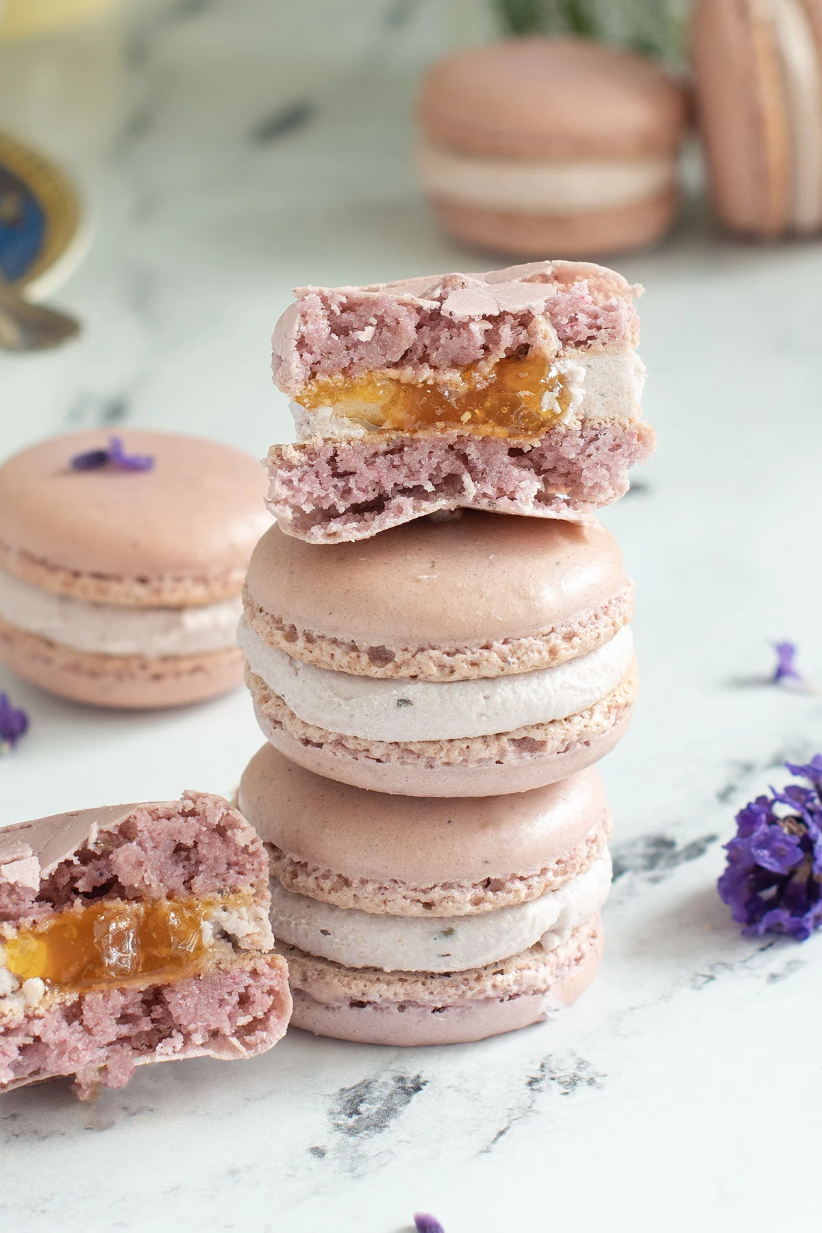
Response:
[{"label": "cream layer of the blurred macaron lying flat in the background", "polygon": [[675,162],[482,158],[424,144],[418,168],[423,187],[444,201],[518,215],[571,215],[658,196],[673,185]]}]

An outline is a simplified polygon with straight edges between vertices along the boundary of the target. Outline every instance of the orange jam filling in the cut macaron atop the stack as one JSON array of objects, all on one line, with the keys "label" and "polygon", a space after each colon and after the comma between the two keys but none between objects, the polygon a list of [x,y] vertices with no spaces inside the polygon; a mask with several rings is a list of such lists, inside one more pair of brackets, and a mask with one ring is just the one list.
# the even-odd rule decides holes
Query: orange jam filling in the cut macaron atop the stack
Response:
[{"label": "orange jam filling in the cut macaron atop the stack", "polygon": [[303,407],[333,407],[364,427],[403,433],[446,429],[479,436],[541,436],[566,414],[571,391],[543,355],[500,360],[487,375],[467,367],[450,388],[387,376],[315,377],[297,397]]}]

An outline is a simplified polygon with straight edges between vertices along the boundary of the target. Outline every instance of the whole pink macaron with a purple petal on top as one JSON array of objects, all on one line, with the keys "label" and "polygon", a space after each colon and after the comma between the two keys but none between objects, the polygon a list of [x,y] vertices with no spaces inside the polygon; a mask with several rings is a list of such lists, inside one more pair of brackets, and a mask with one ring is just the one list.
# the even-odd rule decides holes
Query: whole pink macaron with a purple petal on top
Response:
[{"label": "whole pink macaron with a purple petal on top", "polygon": [[255,459],[217,441],[104,432],[0,466],[0,660],[99,707],[176,707],[239,684],[234,631],[271,524]]}]

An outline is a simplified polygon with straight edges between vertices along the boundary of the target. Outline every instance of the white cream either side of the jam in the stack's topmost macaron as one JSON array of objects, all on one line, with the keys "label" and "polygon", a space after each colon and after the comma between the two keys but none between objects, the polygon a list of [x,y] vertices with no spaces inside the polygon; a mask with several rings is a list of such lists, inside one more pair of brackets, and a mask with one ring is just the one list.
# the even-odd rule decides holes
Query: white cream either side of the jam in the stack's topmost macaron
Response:
[{"label": "white cream either side of the jam in the stack's topmost macaron", "polygon": [[[632,348],[619,351],[573,351],[553,361],[571,391],[571,406],[560,420],[564,428],[611,420],[631,424],[641,418],[645,364]],[[364,438],[385,432],[380,424],[364,423],[345,414],[345,403],[309,409],[291,403],[297,439]]]}]

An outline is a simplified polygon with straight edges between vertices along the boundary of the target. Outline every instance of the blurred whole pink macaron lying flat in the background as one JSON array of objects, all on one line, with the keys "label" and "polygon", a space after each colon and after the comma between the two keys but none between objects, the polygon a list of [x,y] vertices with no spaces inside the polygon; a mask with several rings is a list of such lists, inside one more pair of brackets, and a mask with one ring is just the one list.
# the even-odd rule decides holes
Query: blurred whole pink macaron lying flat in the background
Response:
[{"label": "blurred whole pink macaron lying flat in the background", "polygon": [[678,203],[682,91],[656,64],[588,39],[457,52],[419,99],[419,171],[462,240],[518,256],[654,243]]}]

